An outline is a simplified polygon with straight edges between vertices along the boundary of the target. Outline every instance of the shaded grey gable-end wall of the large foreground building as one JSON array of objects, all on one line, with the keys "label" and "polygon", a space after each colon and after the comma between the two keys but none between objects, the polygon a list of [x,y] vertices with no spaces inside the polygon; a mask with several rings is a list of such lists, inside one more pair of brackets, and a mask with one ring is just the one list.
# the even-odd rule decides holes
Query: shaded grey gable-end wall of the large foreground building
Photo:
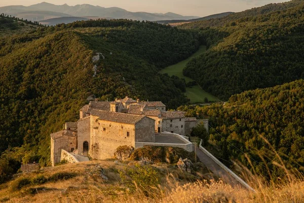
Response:
[{"label": "shaded grey gable-end wall of the large foreground building", "polygon": [[145,117],[136,123],[135,142],[155,142],[155,120]]}]

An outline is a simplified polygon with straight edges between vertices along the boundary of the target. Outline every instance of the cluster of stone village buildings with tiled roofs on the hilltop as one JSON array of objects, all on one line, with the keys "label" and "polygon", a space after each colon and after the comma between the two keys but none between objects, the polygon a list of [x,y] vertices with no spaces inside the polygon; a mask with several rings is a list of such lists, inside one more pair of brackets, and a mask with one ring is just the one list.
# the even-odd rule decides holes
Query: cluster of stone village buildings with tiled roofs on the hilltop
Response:
[{"label": "cluster of stone village buildings with tiled roofs on the hilltop", "polygon": [[180,147],[193,151],[188,141],[192,128],[208,120],[185,118],[184,112],[166,111],[161,101],[133,100],[126,96],[115,101],[90,101],[79,110],[77,122],[51,134],[51,161],[79,162],[112,158],[120,146],[135,149],[150,146]]}]

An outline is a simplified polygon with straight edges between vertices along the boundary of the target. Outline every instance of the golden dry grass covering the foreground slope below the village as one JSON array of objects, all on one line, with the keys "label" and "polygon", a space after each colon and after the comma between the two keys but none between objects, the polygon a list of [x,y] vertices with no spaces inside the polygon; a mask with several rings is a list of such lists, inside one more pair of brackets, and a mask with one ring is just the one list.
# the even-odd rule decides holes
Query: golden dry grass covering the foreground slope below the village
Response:
[{"label": "golden dry grass covering the foreground slope below the village", "polygon": [[[88,176],[90,168],[99,165],[108,180],[96,178],[94,174]],[[37,189],[36,194],[26,192],[30,186],[14,192],[10,189],[12,182],[9,182],[0,186],[0,202],[304,202],[304,179],[299,175],[292,180],[282,180],[280,184],[268,185],[255,177],[251,186],[256,192],[250,192],[221,181],[186,183],[177,180],[176,176],[182,176],[178,174],[181,172],[168,168],[170,165],[160,166],[159,173],[163,177],[161,185],[147,197],[140,189],[131,193],[120,183],[118,170],[123,171],[126,166],[113,161],[92,161],[44,168],[39,173],[23,174],[21,177],[33,178],[39,174],[49,177],[59,172],[80,175],[65,181],[31,186]]]}]

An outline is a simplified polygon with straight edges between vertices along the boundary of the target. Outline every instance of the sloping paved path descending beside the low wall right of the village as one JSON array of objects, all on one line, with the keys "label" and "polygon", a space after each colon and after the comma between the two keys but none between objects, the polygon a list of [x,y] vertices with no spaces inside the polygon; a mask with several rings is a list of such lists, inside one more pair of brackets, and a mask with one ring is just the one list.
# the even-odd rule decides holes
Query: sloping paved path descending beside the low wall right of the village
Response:
[{"label": "sloping paved path descending beside the low wall right of the village", "polygon": [[[193,149],[195,150],[195,145]],[[196,147],[197,156],[201,160],[202,163],[217,177],[221,178],[225,183],[229,183],[232,186],[240,185],[240,183],[232,177],[229,173],[222,169],[220,165],[218,165],[215,161],[213,161],[209,156],[207,156],[199,147]]]}]

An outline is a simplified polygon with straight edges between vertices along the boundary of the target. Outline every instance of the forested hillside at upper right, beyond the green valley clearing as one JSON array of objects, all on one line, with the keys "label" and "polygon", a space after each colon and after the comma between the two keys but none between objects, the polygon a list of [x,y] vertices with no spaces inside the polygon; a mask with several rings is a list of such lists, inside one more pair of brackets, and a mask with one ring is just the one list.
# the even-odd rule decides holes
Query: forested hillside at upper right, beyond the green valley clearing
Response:
[{"label": "forested hillside at upper right, beyond the green valley clearing", "polygon": [[221,99],[304,78],[304,1],[188,23],[210,49],[184,75]]}]

